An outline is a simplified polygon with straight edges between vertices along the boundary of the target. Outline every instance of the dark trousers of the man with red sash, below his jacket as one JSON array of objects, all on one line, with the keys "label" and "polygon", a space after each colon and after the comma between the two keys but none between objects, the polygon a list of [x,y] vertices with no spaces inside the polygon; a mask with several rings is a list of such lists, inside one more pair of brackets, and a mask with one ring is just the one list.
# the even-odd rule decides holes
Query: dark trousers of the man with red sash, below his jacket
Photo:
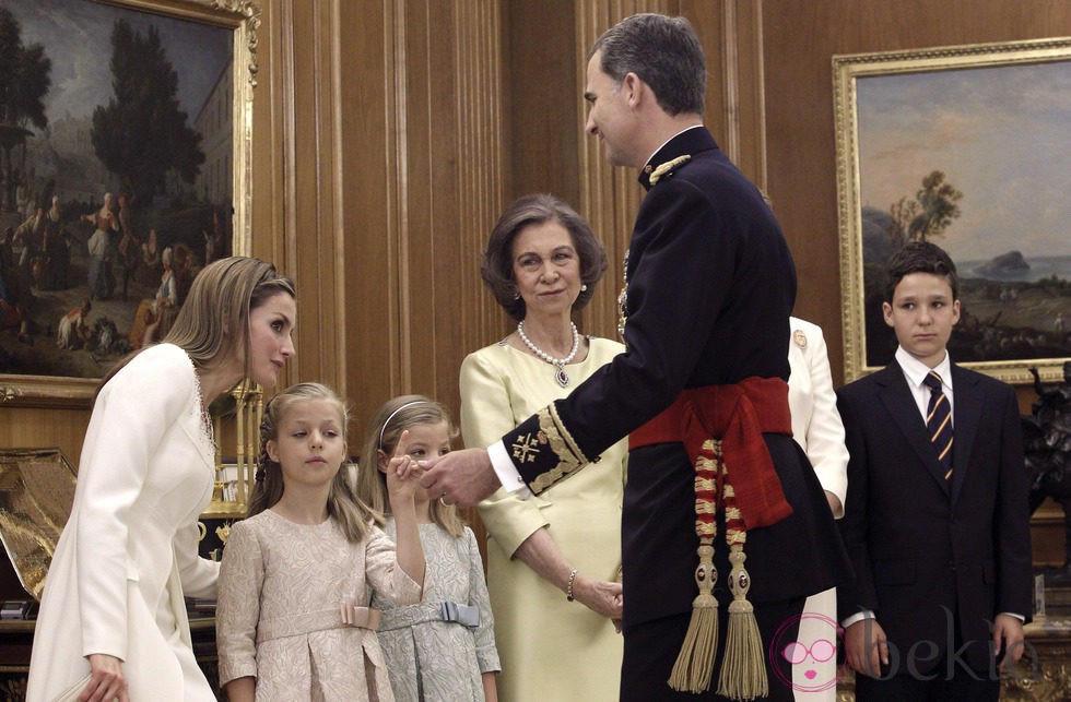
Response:
[{"label": "dark trousers of the man with red sash, below his jacket", "polygon": [[[726,700],[716,693],[721,658],[725,654],[728,626],[728,600],[718,608],[718,650],[715,656],[710,689],[702,694],[678,692],[668,680],[687,631],[691,614],[656,619],[625,630],[625,654],[621,667],[622,702],[658,702],[660,700]],[[755,605],[755,620],[766,652],[766,674],[769,680],[768,702],[791,702],[792,668],[780,655],[784,646],[796,641],[799,632],[803,598]]]}]

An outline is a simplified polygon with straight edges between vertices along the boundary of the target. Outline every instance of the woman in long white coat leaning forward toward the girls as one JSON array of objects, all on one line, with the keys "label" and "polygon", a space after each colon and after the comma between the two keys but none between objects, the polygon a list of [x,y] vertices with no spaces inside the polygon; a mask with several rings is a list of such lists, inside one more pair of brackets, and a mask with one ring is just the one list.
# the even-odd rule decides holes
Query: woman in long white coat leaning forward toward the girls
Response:
[{"label": "woman in long white coat leaning forward toward the girls", "polygon": [[222,259],[195,278],[164,341],[102,381],[45,581],[30,702],[215,700],[184,600],[214,597],[219,574],[197,554],[215,480],[208,407],[243,378],[275,384],[295,314],[294,285],[271,264]]}]

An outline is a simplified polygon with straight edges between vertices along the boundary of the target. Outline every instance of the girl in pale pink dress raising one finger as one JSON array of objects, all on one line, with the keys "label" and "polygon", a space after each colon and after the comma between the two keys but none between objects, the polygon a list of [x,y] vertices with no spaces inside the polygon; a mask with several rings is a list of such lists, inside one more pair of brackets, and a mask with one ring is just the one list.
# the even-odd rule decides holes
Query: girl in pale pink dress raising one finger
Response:
[{"label": "girl in pale pink dress raising one finger", "polygon": [[346,425],[345,405],[319,383],[264,408],[249,516],[234,525],[220,571],[216,644],[231,702],[393,700],[368,598],[375,587],[421,600],[420,469],[407,454],[386,466],[396,550],[341,471]]}]

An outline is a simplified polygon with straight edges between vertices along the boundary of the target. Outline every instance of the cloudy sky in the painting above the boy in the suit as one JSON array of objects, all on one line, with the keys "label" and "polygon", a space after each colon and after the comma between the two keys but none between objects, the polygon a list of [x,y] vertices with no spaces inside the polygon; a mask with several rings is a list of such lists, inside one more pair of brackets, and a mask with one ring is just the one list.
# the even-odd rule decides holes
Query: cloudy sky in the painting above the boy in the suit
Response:
[{"label": "cloudy sky in the painting above the boy in the suit", "polygon": [[1071,61],[857,80],[861,202],[887,211],[943,170],[955,260],[1071,254]]}]

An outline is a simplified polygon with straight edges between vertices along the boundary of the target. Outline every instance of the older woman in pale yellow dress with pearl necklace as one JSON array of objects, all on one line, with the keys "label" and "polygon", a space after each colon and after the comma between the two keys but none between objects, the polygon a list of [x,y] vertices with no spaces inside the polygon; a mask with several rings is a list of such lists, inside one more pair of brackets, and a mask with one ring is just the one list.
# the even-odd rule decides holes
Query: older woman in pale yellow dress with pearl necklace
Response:
[{"label": "older woman in pale yellow dress with pearl necklace", "polygon": [[[503,213],[481,274],[517,328],[461,365],[467,445],[492,443],[624,350],[572,320],[605,267],[591,227],[561,200],[527,195]],[[617,699],[626,459],[620,442],[539,497],[498,490],[480,504],[503,700]]]}]

